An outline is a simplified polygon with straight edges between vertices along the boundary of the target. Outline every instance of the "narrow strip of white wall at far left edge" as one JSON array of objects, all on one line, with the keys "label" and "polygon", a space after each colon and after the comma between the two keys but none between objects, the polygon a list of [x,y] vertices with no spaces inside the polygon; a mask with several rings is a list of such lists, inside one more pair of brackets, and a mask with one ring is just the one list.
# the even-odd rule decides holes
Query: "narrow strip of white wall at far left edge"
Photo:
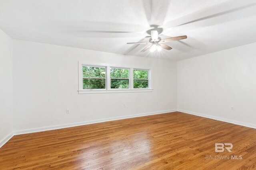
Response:
[{"label": "narrow strip of white wall at far left edge", "polygon": [[0,29],[0,147],[13,129],[12,39]]}]

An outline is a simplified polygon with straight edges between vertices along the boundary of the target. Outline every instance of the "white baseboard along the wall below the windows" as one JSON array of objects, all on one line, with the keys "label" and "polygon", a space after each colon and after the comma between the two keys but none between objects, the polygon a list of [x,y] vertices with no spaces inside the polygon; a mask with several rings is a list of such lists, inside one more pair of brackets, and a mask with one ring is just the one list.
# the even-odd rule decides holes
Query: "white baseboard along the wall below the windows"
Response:
[{"label": "white baseboard along the wall below the windows", "polygon": [[165,110],[165,111],[156,111],[156,112],[151,112],[151,113],[142,113],[142,114],[137,114],[137,115],[127,115],[127,116],[120,116],[120,117],[112,117],[112,118],[107,118],[107,119],[98,119],[98,120],[94,120],[94,121],[84,121],[84,122],[79,122],[79,123],[72,123],[72,124],[66,124],[66,125],[57,125],[57,126],[51,126],[51,127],[27,129],[27,130],[22,130],[22,131],[15,131],[14,135],[21,135],[21,134],[41,132],[41,131],[49,131],[49,130],[55,130],[55,129],[62,129],[62,128],[66,128],[66,127],[74,127],[74,126],[88,125],[88,124],[100,123],[100,122],[106,122],[106,121],[127,119],[127,118],[132,118],[132,117],[157,115],[157,114],[162,114],[162,113],[170,113],[170,112],[174,112],[174,111],[177,111],[177,109]]}]

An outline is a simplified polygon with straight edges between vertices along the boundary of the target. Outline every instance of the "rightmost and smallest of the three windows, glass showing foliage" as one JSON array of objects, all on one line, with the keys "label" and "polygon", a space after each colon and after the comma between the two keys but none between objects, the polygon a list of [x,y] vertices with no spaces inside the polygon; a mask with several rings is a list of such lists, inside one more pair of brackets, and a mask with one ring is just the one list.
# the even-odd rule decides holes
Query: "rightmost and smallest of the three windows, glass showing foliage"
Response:
[{"label": "rightmost and smallest of the three windows, glass showing foliage", "polygon": [[148,70],[133,70],[133,88],[148,88]]}]

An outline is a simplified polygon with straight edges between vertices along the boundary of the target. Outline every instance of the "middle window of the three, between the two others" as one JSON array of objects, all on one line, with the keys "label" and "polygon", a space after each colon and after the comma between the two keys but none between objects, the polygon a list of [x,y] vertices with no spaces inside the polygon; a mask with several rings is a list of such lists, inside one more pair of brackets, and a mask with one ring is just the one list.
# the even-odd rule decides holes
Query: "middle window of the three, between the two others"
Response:
[{"label": "middle window of the three, between the two others", "polygon": [[129,88],[129,69],[110,68],[111,88]]}]

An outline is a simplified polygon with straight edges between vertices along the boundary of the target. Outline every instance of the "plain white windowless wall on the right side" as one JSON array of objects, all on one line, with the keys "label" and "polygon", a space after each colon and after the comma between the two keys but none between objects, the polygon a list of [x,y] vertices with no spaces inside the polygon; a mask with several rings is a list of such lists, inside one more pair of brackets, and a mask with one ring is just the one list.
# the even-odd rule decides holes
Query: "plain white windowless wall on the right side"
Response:
[{"label": "plain white windowless wall on the right side", "polygon": [[179,61],[178,109],[256,128],[256,43]]}]

